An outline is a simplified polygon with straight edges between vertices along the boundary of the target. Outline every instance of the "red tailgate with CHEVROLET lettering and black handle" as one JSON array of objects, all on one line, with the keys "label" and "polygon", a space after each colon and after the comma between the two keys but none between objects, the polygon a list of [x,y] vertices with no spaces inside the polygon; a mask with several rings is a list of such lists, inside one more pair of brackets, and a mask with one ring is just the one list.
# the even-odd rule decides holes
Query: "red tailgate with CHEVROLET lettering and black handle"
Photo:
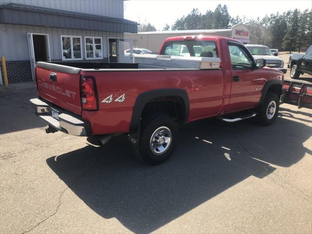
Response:
[{"label": "red tailgate with CHEVROLET lettering and black handle", "polygon": [[79,68],[38,62],[36,81],[39,97],[65,110],[81,114]]}]

